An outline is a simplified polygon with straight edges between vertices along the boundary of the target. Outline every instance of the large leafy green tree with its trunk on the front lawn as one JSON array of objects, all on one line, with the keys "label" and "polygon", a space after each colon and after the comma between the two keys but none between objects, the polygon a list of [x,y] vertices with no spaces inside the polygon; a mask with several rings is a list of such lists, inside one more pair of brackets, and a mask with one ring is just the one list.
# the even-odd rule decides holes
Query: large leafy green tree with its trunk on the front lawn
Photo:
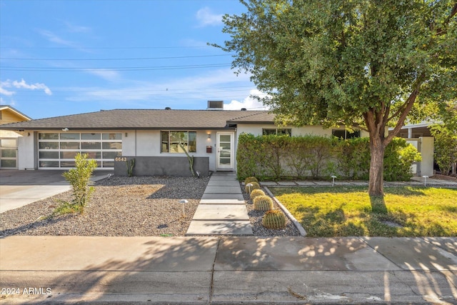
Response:
[{"label": "large leafy green tree with its trunk on the front lawn", "polygon": [[[457,92],[457,4],[429,0],[241,0],[224,46],[287,124],[368,131],[369,194],[406,119],[446,109]],[[217,46],[215,44],[215,46]],[[431,107],[433,105],[433,107]],[[386,133],[386,127],[393,131]]]}]

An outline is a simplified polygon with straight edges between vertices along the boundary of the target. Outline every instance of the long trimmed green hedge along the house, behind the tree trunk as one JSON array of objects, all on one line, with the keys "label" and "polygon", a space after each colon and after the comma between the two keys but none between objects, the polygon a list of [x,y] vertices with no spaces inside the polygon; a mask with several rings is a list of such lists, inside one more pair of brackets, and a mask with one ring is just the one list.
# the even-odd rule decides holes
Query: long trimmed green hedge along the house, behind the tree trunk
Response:
[{"label": "long trimmed green hedge along the house, behind the tree trunk", "polygon": [[[405,139],[386,147],[384,179],[411,179],[411,164],[420,154]],[[320,179],[336,174],[348,179],[368,179],[368,138],[339,140],[326,136],[253,136],[241,134],[236,152],[238,179]]]}]

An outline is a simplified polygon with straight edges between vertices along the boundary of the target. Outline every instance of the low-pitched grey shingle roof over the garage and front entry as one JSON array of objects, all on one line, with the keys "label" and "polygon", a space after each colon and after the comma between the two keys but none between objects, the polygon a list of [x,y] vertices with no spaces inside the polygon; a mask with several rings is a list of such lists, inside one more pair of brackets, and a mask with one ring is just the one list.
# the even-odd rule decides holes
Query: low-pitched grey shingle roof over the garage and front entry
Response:
[{"label": "low-pitched grey shingle roof over the garage and front entry", "polygon": [[236,124],[273,124],[268,111],[114,109],[5,124],[6,130],[225,129]]}]

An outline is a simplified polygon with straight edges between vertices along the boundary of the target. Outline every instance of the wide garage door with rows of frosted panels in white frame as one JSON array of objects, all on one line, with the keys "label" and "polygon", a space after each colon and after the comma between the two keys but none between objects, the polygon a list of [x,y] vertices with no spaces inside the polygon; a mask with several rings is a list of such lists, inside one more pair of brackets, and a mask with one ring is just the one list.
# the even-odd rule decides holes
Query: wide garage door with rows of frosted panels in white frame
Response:
[{"label": "wide garage door with rows of frosted panels in white frame", "polygon": [[99,168],[113,169],[122,155],[121,133],[43,132],[38,135],[40,169],[70,169],[76,154],[87,154]]}]

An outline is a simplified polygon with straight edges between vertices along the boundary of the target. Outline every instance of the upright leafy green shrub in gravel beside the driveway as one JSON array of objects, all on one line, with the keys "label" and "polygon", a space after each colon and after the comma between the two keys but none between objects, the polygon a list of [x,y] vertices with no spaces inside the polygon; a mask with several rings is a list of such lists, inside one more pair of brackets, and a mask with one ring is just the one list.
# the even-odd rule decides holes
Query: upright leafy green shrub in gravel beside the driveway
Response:
[{"label": "upright leafy green shrub in gravel beside the driveway", "polygon": [[94,159],[87,159],[87,154],[77,154],[74,158],[75,168],[62,174],[66,181],[69,181],[73,191],[71,202],[61,201],[53,214],[67,214],[76,211],[83,214],[84,207],[89,202],[91,194],[94,192],[94,186],[89,186],[92,172],[97,167]]}]

